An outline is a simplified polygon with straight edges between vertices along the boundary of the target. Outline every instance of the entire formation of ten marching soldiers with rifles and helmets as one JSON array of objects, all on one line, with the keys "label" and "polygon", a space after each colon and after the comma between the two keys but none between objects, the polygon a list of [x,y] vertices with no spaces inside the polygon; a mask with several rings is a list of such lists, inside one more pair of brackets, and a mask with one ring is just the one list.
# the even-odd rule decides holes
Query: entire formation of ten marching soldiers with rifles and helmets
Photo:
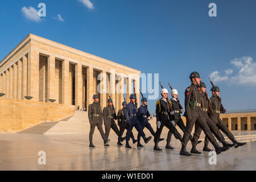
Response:
[{"label": "entire formation of ten marching soldiers with rifles and helmets", "polygon": [[[212,97],[209,98],[206,86],[204,82],[201,81],[199,73],[192,72],[189,78],[191,80],[191,85],[185,90],[185,110],[180,104],[177,90],[172,89],[169,84],[172,97],[169,99],[168,90],[163,88],[161,85],[162,90],[160,94],[162,98],[156,102],[156,132],[148,122],[150,121],[151,115],[147,109],[147,98],[143,97],[142,93],[142,105],[139,108],[137,107],[137,97],[135,94],[131,94],[129,104],[124,101],[122,103],[123,108],[118,111],[118,114],[115,113],[113,101],[111,99],[108,99],[108,106],[106,106],[102,112],[99,104],[99,97],[94,95],[94,102],[89,105],[88,110],[90,122],[89,147],[95,147],[93,145],[93,133],[96,126],[104,140],[104,146],[109,146],[108,143],[110,140],[108,138],[110,129],[112,129],[115,134],[117,134],[118,146],[122,146],[122,142],[126,140],[125,147],[131,148],[129,144],[129,140],[131,138],[133,140],[133,144],[137,143],[137,147],[143,147],[141,138],[143,138],[144,143],[148,143],[151,140],[151,137],[146,137],[143,132],[146,127],[154,137],[154,150],[161,151],[162,149],[159,148],[158,143],[164,140],[163,138],[160,138],[164,126],[169,129],[166,149],[174,149],[170,144],[172,134],[174,134],[174,137],[181,142],[180,155],[184,156],[201,154],[201,152],[196,149],[196,146],[201,142],[199,138],[202,130],[205,133],[203,151],[212,151],[208,147],[209,142],[212,143],[217,154],[220,154],[233,146],[237,148],[245,145],[245,142],[237,142],[234,135],[220,119],[220,113],[226,112],[221,104],[220,88],[218,88],[218,86],[214,86],[213,82],[210,81],[213,87],[210,89]],[[181,118],[181,114],[183,112],[184,117],[187,120],[186,125],[184,125],[183,119]],[[116,120],[118,121],[119,129],[115,123]],[[105,125],[105,133],[102,129],[103,121]],[[183,131],[183,137],[181,137],[181,134],[177,131],[176,126],[179,126],[181,131]],[[192,137],[191,132],[194,126],[195,132]],[[134,138],[132,131],[133,127],[138,131],[137,139]],[[125,130],[126,137],[122,137]],[[220,130],[233,142],[232,144],[225,141]],[[218,145],[215,137],[220,143],[222,143],[222,147]],[[191,140],[192,143],[190,153],[187,151],[187,143],[189,140]]]}]

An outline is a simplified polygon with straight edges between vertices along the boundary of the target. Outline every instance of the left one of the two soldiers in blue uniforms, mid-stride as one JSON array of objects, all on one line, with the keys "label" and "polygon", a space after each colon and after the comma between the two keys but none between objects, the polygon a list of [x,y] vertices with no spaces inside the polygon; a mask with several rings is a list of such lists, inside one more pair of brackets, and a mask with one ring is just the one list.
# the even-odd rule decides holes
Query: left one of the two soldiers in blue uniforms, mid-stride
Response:
[{"label": "left one of the two soldiers in blue uniforms, mid-stride", "polygon": [[141,135],[141,137],[144,139],[145,143],[148,143],[152,137],[145,137],[145,134],[141,128],[141,125],[139,124],[138,118],[137,118],[137,104],[135,104],[135,101],[137,100],[137,97],[134,94],[131,94],[130,96],[130,103],[127,104],[125,108],[125,118],[126,122],[128,123],[128,130],[126,132],[126,148],[131,148],[129,145],[129,140],[131,138],[131,131],[133,130],[133,127],[138,131],[138,133]]}]

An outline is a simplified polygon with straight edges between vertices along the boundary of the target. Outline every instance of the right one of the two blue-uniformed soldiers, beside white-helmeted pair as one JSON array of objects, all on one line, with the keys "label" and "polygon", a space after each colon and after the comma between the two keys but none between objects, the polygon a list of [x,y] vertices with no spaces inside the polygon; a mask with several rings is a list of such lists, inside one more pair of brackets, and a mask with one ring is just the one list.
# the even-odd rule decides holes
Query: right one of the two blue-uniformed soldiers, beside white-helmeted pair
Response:
[{"label": "right one of the two blue-uniformed soldiers, beside white-helmeted pair", "polygon": [[[138,119],[139,123],[141,124],[142,130],[146,127],[150,133],[155,137],[155,131],[152,129],[150,123],[148,122],[150,120],[150,113],[147,109],[147,98],[143,97],[141,100],[141,106],[138,109]],[[163,138],[160,139],[160,141],[164,140]],[[137,147],[143,147],[141,144],[141,135],[138,133],[138,144]]]}]

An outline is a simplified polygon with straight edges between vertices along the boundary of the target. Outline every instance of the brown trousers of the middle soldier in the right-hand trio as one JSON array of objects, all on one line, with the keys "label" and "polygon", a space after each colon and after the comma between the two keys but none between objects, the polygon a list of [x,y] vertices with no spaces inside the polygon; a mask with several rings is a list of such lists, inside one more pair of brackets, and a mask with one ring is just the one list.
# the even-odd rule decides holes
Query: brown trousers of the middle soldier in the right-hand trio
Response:
[{"label": "brown trousers of the middle soldier in the right-hand trio", "polygon": [[[213,123],[212,119],[210,117],[207,116],[207,125],[210,128],[210,131],[212,131],[213,135],[220,141],[223,142],[225,139],[223,137],[223,135],[221,134],[220,130],[218,130],[218,127]],[[200,128],[200,126],[196,123],[195,126],[195,133],[193,135],[193,139],[192,139],[192,146],[196,146],[198,139],[200,138],[200,134],[202,132],[202,129]],[[204,140],[204,144],[205,146],[208,146],[209,143],[209,139],[207,136],[205,136],[205,140]]]}]

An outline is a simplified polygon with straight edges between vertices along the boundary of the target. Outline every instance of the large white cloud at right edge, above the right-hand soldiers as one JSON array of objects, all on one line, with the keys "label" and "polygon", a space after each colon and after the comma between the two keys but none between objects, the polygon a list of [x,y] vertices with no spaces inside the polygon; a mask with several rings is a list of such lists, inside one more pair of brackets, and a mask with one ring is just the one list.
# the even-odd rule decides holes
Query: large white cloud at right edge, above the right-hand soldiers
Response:
[{"label": "large white cloud at right edge, above the right-hand soldiers", "polygon": [[233,74],[233,69],[226,69],[225,76],[221,76],[220,72],[214,71],[210,73],[210,77],[215,82],[226,81],[228,84],[256,86],[256,62],[250,56],[236,58],[230,63],[237,69],[236,75]]}]

